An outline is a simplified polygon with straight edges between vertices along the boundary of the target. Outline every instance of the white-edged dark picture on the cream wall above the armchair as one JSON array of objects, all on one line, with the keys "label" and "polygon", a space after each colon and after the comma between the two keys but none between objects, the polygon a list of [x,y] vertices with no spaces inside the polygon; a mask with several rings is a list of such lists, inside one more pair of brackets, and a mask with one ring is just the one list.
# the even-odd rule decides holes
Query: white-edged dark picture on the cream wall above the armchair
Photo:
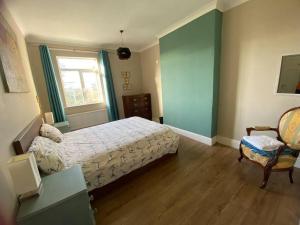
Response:
[{"label": "white-edged dark picture on the cream wall above the armchair", "polygon": [[300,94],[300,55],[282,57],[277,93]]}]

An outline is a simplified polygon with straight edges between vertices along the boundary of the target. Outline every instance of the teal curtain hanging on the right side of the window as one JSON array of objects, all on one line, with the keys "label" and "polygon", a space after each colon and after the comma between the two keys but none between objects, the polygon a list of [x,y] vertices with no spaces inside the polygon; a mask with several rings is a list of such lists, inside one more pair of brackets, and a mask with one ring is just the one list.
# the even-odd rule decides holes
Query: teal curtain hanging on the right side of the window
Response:
[{"label": "teal curtain hanging on the right side of the window", "polygon": [[115,121],[119,119],[119,112],[107,51],[101,50],[99,52],[99,58],[100,68],[104,74],[103,83],[108,119],[109,121]]}]

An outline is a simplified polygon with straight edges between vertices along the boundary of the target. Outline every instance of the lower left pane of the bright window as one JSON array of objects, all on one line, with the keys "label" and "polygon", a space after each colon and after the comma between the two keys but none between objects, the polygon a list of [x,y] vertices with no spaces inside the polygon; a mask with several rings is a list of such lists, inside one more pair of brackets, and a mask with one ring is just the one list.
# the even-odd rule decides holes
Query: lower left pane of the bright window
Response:
[{"label": "lower left pane of the bright window", "polygon": [[84,97],[79,72],[61,71],[61,78],[67,106],[83,105]]}]

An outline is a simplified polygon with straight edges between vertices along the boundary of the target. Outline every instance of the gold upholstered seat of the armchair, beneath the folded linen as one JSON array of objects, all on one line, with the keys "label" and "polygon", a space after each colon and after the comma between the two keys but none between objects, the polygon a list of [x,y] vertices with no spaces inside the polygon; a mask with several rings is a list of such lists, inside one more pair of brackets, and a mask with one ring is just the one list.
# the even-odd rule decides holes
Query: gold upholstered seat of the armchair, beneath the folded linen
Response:
[{"label": "gold upholstered seat of the armchair, beneath the folded linen", "polygon": [[[242,144],[242,151],[247,158],[261,164],[262,166],[266,166],[269,159],[272,157],[261,155],[257,151],[253,151],[253,149],[244,144]],[[279,156],[278,162],[275,166],[273,166],[273,169],[286,169],[293,167],[297,160],[298,153],[299,152],[295,152],[288,148],[285,149]]]}]

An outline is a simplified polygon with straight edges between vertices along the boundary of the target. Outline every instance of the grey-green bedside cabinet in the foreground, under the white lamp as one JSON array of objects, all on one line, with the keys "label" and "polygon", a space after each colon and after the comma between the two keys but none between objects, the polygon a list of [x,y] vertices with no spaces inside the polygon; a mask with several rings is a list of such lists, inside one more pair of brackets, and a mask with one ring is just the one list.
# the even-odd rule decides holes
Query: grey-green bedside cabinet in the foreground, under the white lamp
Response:
[{"label": "grey-green bedside cabinet in the foreground, under the white lamp", "polygon": [[81,167],[42,178],[39,196],[23,200],[18,225],[95,225]]}]

